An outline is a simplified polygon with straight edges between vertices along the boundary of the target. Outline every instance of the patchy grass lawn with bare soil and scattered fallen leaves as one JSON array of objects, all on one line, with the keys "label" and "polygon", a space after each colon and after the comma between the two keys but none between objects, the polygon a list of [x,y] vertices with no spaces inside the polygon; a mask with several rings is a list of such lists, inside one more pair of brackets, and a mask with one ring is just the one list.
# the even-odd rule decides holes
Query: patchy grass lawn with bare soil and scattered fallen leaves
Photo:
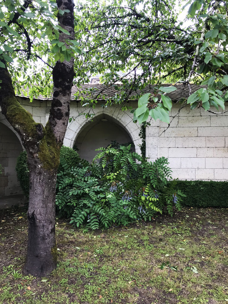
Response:
[{"label": "patchy grass lawn with bare soil and scattered fallen leaves", "polygon": [[228,303],[228,209],[97,231],[57,219],[56,233],[57,269],[22,276],[26,213],[1,211],[1,304]]}]

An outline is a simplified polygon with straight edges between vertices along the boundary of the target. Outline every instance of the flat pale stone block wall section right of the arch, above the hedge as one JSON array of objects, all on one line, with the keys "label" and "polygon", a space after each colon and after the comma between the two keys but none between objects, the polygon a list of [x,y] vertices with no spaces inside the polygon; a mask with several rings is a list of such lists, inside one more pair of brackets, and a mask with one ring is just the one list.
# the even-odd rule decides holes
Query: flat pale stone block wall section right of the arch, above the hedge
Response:
[{"label": "flat pale stone block wall section right of the arch, above the hedge", "polygon": [[[172,117],[178,109],[173,106]],[[167,123],[151,121],[147,128],[150,161],[167,157],[173,178],[228,180],[228,112],[217,116],[202,108],[190,111],[185,107],[167,127]]]}]

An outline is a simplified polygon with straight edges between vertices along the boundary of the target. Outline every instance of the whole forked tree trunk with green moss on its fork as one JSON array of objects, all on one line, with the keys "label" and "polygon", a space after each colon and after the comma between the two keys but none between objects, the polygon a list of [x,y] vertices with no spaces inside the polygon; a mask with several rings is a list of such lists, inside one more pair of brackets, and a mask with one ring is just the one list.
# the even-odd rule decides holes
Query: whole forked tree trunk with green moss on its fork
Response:
[{"label": "whole forked tree trunk with green moss on its fork", "polygon": [[[74,40],[73,0],[57,0],[60,26],[59,40]],[[67,44],[66,44],[67,47]],[[5,62],[1,60],[4,64]],[[53,69],[54,94],[50,116],[44,127],[33,120],[17,101],[7,67],[0,67],[0,106],[2,113],[18,132],[27,151],[29,166],[28,248],[24,274],[49,275],[56,268],[55,187],[60,148],[63,144],[70,111],[74,60],[57,61]]]}]

